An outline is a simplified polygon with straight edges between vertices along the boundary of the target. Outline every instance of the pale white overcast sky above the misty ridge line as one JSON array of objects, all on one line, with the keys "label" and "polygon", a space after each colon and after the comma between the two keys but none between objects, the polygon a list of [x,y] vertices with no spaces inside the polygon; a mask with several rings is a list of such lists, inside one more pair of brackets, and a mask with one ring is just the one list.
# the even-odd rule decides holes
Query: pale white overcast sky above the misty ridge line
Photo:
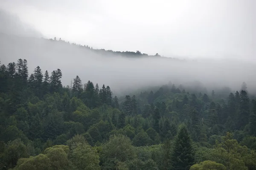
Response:
[{"label": "pale white overcast sky above the misty ridge line", "polygon": [[167,57],[256,57],[255,0],[0,0],[46,38]]}]

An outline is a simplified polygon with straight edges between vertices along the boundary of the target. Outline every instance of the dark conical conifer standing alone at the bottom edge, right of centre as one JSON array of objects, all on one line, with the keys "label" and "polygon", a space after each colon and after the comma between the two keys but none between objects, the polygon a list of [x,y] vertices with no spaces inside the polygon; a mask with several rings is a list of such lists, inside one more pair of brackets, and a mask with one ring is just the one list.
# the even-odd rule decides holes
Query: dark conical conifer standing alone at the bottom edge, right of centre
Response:
[{"label": "dark conical conifer standing alone at the bottom edge, right of centre", "polygon": [[180,128],[175,139],[171,160],[173,170],[189,170],[195,163],[192,141],[184,126]]}]

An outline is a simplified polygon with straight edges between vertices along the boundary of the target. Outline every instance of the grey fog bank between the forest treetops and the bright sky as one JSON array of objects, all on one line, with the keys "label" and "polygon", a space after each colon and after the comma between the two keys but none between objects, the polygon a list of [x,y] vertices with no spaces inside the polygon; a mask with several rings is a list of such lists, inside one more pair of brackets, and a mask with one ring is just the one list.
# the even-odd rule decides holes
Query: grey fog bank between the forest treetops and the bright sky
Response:
[{"label": "grey fog bank between the forest treetops and the bright sky", "polygon": [[[28,61],[31,74],[38,65],[42,71],[60,68],[63,85],[70,85],[78,75],[83,83],[109,85],[114,94],[123,94],[142,87],[164,85],[192,85],[199,81],[208,91],[228,86],[239,90],[242,82],[249,91],[256,90],[256,60],[235,56],[204,57],[123,57],[99,52],[64,41],[48,40],[32,26],[15,15],[0,11],[0,61],[7,65],[18,59]],[[2,22],[4,21],[4,22]],[[122,44],[122,42],[120,42]],[[86,44],[87,45],[87,44]],[[88,44],[90,45],[90,44]],[[138,47],[140,49],[140,47]],[[186,48],[184,48],[186,50]],[[147,51],[141,51],[147,53]],[[189,58],[189,56],[187,56]]]}]

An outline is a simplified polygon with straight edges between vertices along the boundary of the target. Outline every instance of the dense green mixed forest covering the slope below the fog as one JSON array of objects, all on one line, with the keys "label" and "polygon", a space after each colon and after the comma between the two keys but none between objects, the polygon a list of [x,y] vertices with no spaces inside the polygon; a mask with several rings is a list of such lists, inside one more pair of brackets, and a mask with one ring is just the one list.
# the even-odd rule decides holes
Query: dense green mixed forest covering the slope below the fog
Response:
[{"label": "dense green mixed forest covering the slope below the fog", "polygon": [[[0,170],[256,170],[256,101],[169,83],[115,96],[108,85],[0,66]],[[40,64],[40,63],[38,63]]]}]

